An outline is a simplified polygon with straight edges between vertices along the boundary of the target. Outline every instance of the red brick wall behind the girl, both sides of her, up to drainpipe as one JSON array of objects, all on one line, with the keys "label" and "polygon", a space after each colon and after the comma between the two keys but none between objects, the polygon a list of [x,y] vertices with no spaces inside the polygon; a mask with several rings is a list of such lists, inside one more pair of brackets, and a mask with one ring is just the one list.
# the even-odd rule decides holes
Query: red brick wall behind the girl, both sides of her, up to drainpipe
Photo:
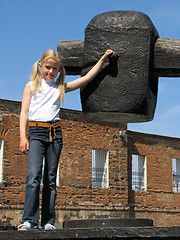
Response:
[{"label": "red brick wall behind the girl, both sides of her, up to drainpipe", "polygon": [[[0,136],[4,140],[4,183],[0,185],[4,215],[1,214],[0,223],[18,224],[23,210],[27,169],[26,156],[19,151],[20,103],[1,100],[0,106],[0,126],[4,129]],[[65,109],[61,110],[61,124],[64,146],[59,164],[57,217],[62,220],[78,218],[79,210],[84,212],[82,218],[110,214],[129,217],[129,212],[125,211],[128,209],[127,145],[119,137],[119,131],[126,130],[126,125],[92,122],[81,112]],[[109,150],[108,189],[92,188],[92,148]],[[12,209],[19,211],[18,216],[9,220]],[[72,214],[72,210],[75,213]]]}]

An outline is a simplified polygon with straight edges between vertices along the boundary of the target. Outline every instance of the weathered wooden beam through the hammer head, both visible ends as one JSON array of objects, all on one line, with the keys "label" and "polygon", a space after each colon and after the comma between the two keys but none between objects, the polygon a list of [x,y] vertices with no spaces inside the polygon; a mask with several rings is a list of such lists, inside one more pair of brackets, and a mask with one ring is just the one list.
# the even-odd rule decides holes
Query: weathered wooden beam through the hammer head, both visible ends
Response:
[{"label": "weathered wooden beam through the hammer head, both visible ends", "polygon": [[[80,75],[84,41],[59,41],[67,75]],[[180,77],[180,39],[158,38],[154,46],[154,74],[156,77]]]}]

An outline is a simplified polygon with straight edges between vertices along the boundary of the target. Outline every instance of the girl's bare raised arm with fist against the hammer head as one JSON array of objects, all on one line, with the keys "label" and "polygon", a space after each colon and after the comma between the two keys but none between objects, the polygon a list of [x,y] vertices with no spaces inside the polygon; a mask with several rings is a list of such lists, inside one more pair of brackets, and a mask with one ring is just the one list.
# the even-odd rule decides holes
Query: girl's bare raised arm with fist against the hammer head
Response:
[{"label": "girl's bare raised arm with fist against the hammer head", "polygon": [[105,54],[99,59],[96,65],[94,65],[94,67],[85,76],[66,83],[66,92],[71,92],[73,90],[76,90],[84,86],[88,82],[92,81],[96,77],[96,75],[100,72],[104,62],[108,59],[108,57],[113,55],[114,55],[114,51],[108,49],[105,52]]}]

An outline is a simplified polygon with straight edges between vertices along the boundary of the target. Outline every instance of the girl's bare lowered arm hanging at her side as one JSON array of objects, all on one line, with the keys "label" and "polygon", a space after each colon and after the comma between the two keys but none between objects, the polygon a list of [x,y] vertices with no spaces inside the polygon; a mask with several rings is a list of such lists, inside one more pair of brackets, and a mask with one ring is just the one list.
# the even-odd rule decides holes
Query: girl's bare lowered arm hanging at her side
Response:
[{"label": "girl's bare lowered arm hanging at her side", "polygon": [[31,85],[27,83],[23,93],[21,113],[20,113],[20,151],[27,153],[29,149],[29,143],[26,136],[26,125],[28,120],[28,112],[31,100]]}]

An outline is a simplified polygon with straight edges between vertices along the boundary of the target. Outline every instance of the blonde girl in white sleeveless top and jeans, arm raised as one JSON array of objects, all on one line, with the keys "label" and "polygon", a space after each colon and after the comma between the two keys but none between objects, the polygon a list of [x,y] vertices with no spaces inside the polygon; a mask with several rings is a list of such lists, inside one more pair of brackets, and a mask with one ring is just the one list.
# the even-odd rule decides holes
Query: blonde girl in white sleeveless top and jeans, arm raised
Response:
[{"label": "blonde girl in white sleeveless top and jeans, arm raised", "polygon": [[[59,118],[60,103],[66,92],[92,81],[103,63],[112,55],[114,52],[107,50],[85,76],[67,83],[64,83],[65,70],[56,51],[44,52],[41,59],[34,64],[31,81],[24,89],[20,113],[20,151],[27,153],[28,172],[24,214],[18,230],[38,227],[43,158],[45,163],[41,226],[45,230],[55,229],[56,175],[63,145]],[[29,122],[28,139],[27,122]]]}]

